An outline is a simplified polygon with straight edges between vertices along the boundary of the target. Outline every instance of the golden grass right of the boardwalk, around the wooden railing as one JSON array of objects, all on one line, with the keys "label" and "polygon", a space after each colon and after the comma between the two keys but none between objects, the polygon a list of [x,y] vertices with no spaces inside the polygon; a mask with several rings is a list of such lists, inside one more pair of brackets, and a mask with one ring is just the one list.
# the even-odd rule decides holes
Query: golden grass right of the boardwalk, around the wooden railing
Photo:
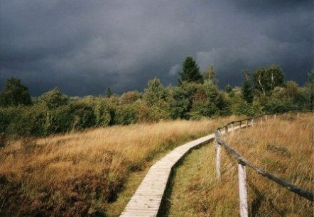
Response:
[{"label": "golden grass right of the boardwalk, around the wooden railing", "polygon": [[[312,115],[269,120],[226,140],[247,160],[314,191]],[[249,216],[313,216],[313,203],[247,168]],[[237,162],[222,149],[222,181],[215,181],[215,148],[193,150],[175,171],[168,216],[239,216]]]}]

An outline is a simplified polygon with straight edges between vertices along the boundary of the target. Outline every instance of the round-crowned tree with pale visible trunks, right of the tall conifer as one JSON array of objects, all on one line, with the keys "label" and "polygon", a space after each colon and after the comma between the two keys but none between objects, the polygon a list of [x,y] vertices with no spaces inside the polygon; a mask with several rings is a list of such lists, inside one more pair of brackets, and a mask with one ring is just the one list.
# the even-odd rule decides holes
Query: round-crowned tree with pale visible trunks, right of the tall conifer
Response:
[{"label": "round-crowned tree with pale visible trunks, right of the tall conifer", "polygon": [[271,94],[271,91],[277,86],[283,86],[283,70],[277,65],[271,65],[268,68],[259,68],[253,74],[254,89],[262,94]]}]

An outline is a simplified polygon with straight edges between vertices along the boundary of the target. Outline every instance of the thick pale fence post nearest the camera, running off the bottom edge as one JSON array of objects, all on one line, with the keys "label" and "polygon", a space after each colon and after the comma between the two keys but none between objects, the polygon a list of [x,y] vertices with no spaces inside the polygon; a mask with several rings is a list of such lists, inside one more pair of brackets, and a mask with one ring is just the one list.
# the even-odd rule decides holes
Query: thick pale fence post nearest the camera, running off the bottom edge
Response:
[{"label": "thick pale fence post nearest the camera, running off the bottom edge", "polygon": [[245,166],[240,163],[238,165],[238,178],[240,216],[248,217],[249,213],[247,211],[247,174],[245,171]]}]

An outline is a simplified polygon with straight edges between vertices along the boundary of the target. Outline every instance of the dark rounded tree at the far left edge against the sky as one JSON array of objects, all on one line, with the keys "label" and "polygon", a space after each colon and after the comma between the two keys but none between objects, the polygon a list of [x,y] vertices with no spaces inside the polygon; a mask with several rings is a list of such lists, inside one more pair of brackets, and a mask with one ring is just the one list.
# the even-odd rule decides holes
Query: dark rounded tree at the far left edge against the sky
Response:
[{"label": "dark rounded tree at the far left edge against the sky", "polygon": [[6,86],[0,94],[0,106],[28,106],[31,104],[31,96],[28,88],[21,84],[20,79],[7,79]]}]

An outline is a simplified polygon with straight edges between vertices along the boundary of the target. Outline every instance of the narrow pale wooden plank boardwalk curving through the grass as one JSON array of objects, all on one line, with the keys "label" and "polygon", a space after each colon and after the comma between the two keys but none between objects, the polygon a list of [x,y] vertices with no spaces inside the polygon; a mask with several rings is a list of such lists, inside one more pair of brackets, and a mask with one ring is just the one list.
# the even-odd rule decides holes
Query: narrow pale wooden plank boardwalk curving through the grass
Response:
[{"label": "narrow pale wooden plank boardwalk curving through the grass", "polygon": [[146,177],[141,182],[139,188],[132,196],[129,204],[121,213],[120,217],[157,216],[173,166],[191,148],[195,148],[204,143],[209,143],[214,138],[215,135],[212,133],[186,143],[185,145],[180,145],[178,148],[175,148],[168,155],[156,162],[156,164],[149,169]]}]

